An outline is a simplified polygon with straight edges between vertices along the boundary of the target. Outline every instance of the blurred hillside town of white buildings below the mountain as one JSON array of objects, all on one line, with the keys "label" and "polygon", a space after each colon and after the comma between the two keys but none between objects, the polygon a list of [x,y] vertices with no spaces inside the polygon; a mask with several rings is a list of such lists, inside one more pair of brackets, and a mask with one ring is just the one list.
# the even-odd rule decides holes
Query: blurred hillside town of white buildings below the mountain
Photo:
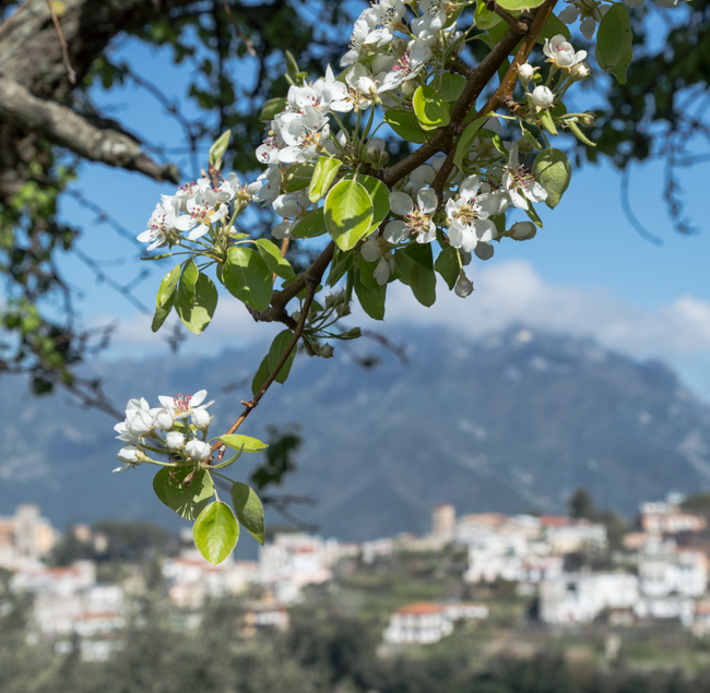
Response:
[{"label": "blurred hillside town of white buildings below the mountain", "polygon": [[[343,565],[357,573],[387,565],[398,554],[437,555],[458,547],[468,555],[458,580],[484,588],[510,585],[535,604],[542,628],[591,624],[603,619],[624,626],[674,620],[698,637],[710,634],[708,570],[710,535],[706,518],[683,509],[683,497],[639,506],[636,524],[611,545],[607,526],[565,515],[476,513],[457,516],[452,505],[431,512],[424,536],[402,534],[359,543],[297,531],[276,533],[257,561],[230,557],[218,566],[205,562],[185,537],[175,555],[158,562],[159,589],[179,607],[188,626],[199,623],[209,600],[241,596],[244,634],[262,628],[287,630],[288,610],[308,599],[309,586],[335,581]],[[107,538],[86,525],[72,527],[73,539],[95,555]],[[0,517],[0,567],[13,594],[33,597],[38,636],[56,648],[81,642],[85,659],[105,660],[120,647],[121,631],[133,617],[133,602],[146,590],[139,565],[120,580],[100,578],[96,560],[52,564],[61,535],[34,505]],[[475,593],[474,593],[475,594]],[[0,593],[0,602],[2,600]],[[0,604],[1,606],[1,604]],[[428,645],[448,636],[459,622],[489,618],[481,601],[439,600],[403,604],[391,613],[382,646]]]}]

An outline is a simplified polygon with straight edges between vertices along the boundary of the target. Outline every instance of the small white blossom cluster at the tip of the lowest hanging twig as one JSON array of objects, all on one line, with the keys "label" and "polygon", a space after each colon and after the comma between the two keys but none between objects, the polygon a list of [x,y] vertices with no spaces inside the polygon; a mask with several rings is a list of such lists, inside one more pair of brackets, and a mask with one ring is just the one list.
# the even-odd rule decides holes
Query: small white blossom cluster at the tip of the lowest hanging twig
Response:
[{"label": "small white blossom cluster at the tip of the lowest hanging twig", "polygon": [[118,452],[121,466],[114,471],[126,471],[143,462],[155,464],[151,454],[168,455],[171,462],[206,459],[212,454],[206,442],[212,420],[208,407],[214,404],[203,404],[206,396],[206,390],[193,395],[161,396],[159,407],[151,407],[143,397],[129,399],[126,419],[114,427],[117,440],[123,444]]}]

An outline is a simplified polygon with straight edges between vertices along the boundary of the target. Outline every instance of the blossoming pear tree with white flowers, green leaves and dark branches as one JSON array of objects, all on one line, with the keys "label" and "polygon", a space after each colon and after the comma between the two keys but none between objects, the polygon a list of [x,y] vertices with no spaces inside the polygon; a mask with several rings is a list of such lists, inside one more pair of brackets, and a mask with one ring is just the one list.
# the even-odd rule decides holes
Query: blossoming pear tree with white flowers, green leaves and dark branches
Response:
[{"label": "blossoming pear tree with white flowers, green leaves and dark branches", "polygon": [[[313,61],[301,60],[312,57],[305,50],[307,43],[300,51],[305,56],[285,53],[281,83],[268,59],[259,60],[264,79],[247,95],[251,109],[238,122],[267,123],[267,135],[256,148],[257,162],[267,168],[246,184],[236,174],[225,176],[229,156],[237,168],[253,167],[245,159],[249,147],[241,146],[253,130],[244,134],[229,118],[237,111],[234,85],[224,71],[230,40],[223,29],[227,19],[235,20],[228,4],[165,2],[139,8],[116,1],[94,7],[91,0],[75,0],[64,8],[60,22],[54,4],[43,9],[28,0],[3,25],[0,39],[9,41],[12,56],[20,55],[16,47],[28,35],[37,34],[47,43],[46,33],[52,31],[63,50],[60,68],[56,48],[47,84],[40,80],[45,72],[27,69],[22,60],[9,63],[9,82],[2,83],[5,136],[15,145],[12,151],[20,151],[17,142],[27,139],[29,152],[26,160],[11,162],[21,174],[26,171],[26,182],[19,187],[22,176],[7,182],[11,205],[5,228],[12,235],[7,248],[16,256],[8,273],[19,292],[5,325],[20,339],[10,348],[14,356],[4,368],[11,370],[12,363],[32,372],[38,392],[60,382],[97,405],[102,401],[95,383],[82,383],[69,369],[81,357],[72,345],[85,347],[87,335],[48,326],[37,311],[39,297],[62,288],[52,271],[51,250],[60,239],[66,247],[72,242],[71,229],[48,226],[72,169],[45,145],[70,147],[85,158],[156,179],[173,180],[175,170],[157,164],[120,126],[97,119],[91,108],[83,112],[68,108],[71,91],[59,75],[66,70],[69,82],[76,74],[88,82],[100,75],[109,84],[119,75],[126,79],[128,68],[90,59],[105,49],[119,25],[151,40],[169,40],[177,59],[189,53],[177,28],[184,23],[197,27],[205,44],[216,45],[218,98],[197,86],[192,89],[202,107],[217,112],[223,130],[204,162],[206,172],[174,195],[164,195],[149,228],[138,236],[147,243],[147,252],[158,250],[150,260],[178,259],[158,288],[153,331],[175,310],[187,330],[202,333],[216,307],[215,280],[242,301],[257,322],[280,322],[283,330],[255,375],[252,399],[244,403],[244,413],[225,433],[209,438],[212,403],[204,404],[204,391],[191,397],[161,397],[156,408],[145,399],[132,399],[126,420],[116,427],[125,443],[117,470],[144,463],[161,466],[154,480],[158,499],[196,521],[196,542],[214,563],[232,550],[240,525],[263,541],[263,513],[256,492],[229,480],[223,469],[242,453],[265,447],[237,430],[271,385],[287,379],[297,346],[310,356],[330,358],[333,343],[360,336],[358,328],[339,326],[352,301],[382,320],[387,288],[393,282],[409,286],[427,307],[436,301],[436,274],[458,296],[469,296],[473,284],[465,266],[472,253],[488,260],[494,241],[534,238],[543,225],[537,211],[542,207],[535,204],[553,210],[569,186],[571,165],[561,150],[552,146],[553,138],[568,131],[582,145],[596,146],[583,130],[594,124],[594,113],[569,112],[565,105],[568,92],[573,94],[591,76],[584,62],[588,51],[572,47],[563,23],[575,20],[573,7],[556,15],[556,0],[477,4],[421,0],[411,5],[379,0],[364,10],[350,49],[340,58],[343,71],[338,76],[329,65],[324,76],[310,79]],[[619,2],[592,5],[575,5],[583,15],[582,32],[588,38],[596,32],[596,62],[625,84],[634,41],[629,11]],[[239,7],[239,17],[248,17],[249,28],[260,32],[249,37],[234,21],[239,49],[244,55],[258,40],[260,48],[277,51],[281,39],[270,35],[274,13],[268,13],[268,20],[260,13],[260,19],[251,7]],[[279,11],[293,13],[289,8],[279,5]],[[88,16],[98,27],[91,40],[81,32]],[[78,56],[66,49],[62,32]],[[202,65],[208,75],[213,69],[211,62]],[[265,100],[270,86],[285,87],[285,82],[291,85],[287,94],[284,88]],[[225,106],[230,99],[232,111]],[[382,123],[397,136],[376,138]],[[193,146],[206,135],[206,128],[196,128],[186,126]],[[639,124],[636,130],[640,129]],[[239,144],[234,156],[228,154],[233,130]],[[43,187],[38,175],[44,176]],[[530,220],[510,225],[506,213],[514,208]],[[261,219],[256,232],[250,220],[242,222],[253,218],[247,210]],[[274,217],[283,220],[273,225]],[[263,236],[269,228],[279,244]],[[25,247],[16,242],[20,232],[31,239]],[[326,241],[311,241],[317,238]],[[301,239],[321,242],[319,250],[312,256],[295,252]],[[323,287],[331,292],[326,295]],[[223,459],[227,449],[234,452]],[[159,456],[163,461],[155,458]],[[214,478],[230,485],[239,522],[216,497]],[[216,500],[211,502],[213,495]]]}]

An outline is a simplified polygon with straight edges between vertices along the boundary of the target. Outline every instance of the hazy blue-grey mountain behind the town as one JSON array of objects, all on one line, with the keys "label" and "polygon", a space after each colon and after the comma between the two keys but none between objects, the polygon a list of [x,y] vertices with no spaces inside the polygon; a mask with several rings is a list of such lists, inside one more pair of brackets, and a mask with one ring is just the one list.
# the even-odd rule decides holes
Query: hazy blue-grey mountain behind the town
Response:
[{"label": "hazy blue-grey mountain behind the town", "polygon": [[[670,489],[710,488],[710,407],[660,362],[522,327],[481,340],[441,330],[391,336],[409,345],[410,366],[384,353],[380,366],[363,370],[338,345],[330,360],[299,356],[242,428],[262,437],[270,423],[300,426],[298,471],[280,491],[315,498],[316,507],[294,512],[327,536],[424,531],[441,502],[460,513],[559,512],[583,486],[597,505],[631,515]],[[216,434],[249,396],[248,387],[221,389],[250,375],[261,354],[94,370],[119,408],[131,396],[156,403],[158,394],[206,387]],[[63,394],[31,398],[17,379],[1,387],[0,514],[37,502],[58,526],[181,522],[154,498],[151,469],[110,474],[118,441],[106,415],[75,408]],[[233,478],[246,479],[258,459],[242,456]]]}]

